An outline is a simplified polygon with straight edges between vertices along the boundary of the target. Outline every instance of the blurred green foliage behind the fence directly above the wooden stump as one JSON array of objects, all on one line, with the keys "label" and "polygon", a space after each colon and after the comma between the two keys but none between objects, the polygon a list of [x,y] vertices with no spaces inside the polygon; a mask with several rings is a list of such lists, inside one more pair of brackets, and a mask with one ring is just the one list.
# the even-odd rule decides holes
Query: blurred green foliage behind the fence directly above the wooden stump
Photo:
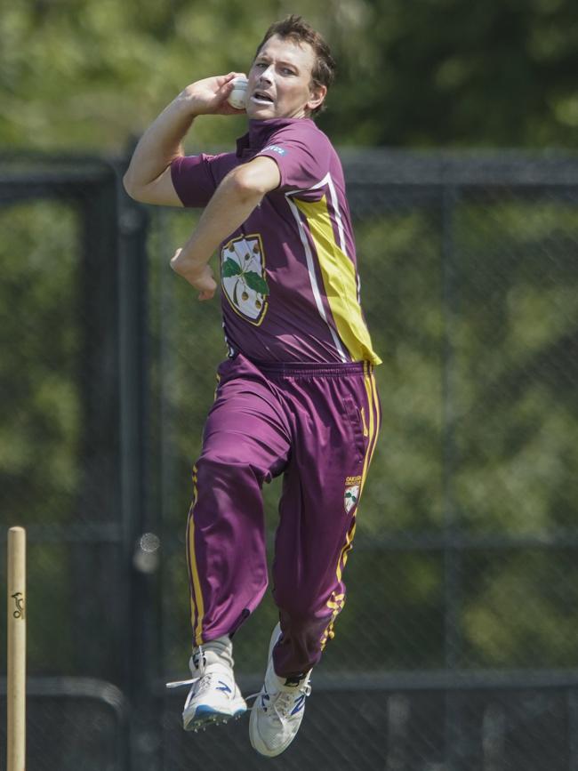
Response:
[{"label": "blurred green foliage behind the fence directly above the wooden stump", "polygon": [[[68,521],[78,483],[77,222],[66,205],[0,209],[0,469],[14,521]],[[42,235],[41,235],[42,234]],[[34,276],[34,281],[30,277]]]}]

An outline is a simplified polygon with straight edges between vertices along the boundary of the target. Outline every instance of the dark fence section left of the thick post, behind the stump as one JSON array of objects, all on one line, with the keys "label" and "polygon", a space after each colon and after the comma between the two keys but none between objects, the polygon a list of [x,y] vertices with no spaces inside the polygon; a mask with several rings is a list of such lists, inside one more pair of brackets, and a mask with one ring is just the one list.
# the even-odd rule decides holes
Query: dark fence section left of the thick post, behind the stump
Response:
[{"label": "dark fence section left of the thick post, behind the stump", "polygon": [[[26,526],[28,766],[39,771],[127,767],[116,186],[98,159],[0,165],[2,585],[6,528]],[[0,627],[4,674],[5,614]],[[5,719],[3,698],[3,748]]]}]

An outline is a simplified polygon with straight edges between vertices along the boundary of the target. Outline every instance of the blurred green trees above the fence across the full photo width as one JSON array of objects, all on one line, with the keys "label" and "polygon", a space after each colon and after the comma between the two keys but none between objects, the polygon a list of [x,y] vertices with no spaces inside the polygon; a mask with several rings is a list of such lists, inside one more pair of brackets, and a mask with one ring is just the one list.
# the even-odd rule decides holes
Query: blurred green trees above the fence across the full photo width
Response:
[{"label": "blurred green trees above the fence across the full photo width", "polygon": [[[186,84],[248,68],[301,12],[339,76],[320,125],[341,144],[574,147],[573,0],[21,0],[0,14],[0,143],[118,151]],[[205,118],[227,143],[242,118]]]}]

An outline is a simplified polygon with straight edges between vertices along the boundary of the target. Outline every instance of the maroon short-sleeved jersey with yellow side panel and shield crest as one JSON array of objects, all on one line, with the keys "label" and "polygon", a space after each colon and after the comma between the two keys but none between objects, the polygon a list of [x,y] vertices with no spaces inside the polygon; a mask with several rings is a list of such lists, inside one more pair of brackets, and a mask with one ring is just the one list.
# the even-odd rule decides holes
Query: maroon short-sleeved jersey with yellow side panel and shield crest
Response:
[{"label": "maroon short-sleeved jersey with yellow side panel and shield crest", "polygon": [[359,302],[355,242],[341,162],[309,118],[249,122],[236,153],[173,161],[183,205],[208,204],[222,179],[272,158],[281,183],[221,244],[229,348],[261,362],[379,364]]}]

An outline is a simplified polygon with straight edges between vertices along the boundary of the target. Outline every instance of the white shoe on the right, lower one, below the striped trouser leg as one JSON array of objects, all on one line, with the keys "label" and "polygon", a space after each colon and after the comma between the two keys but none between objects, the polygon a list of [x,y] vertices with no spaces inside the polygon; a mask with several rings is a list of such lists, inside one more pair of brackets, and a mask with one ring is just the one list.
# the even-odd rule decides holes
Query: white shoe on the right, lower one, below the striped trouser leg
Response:
[{"label": "white shoe on the right, lower one, below the striped trouser leg", "polygon": [[253,749],[268,758],[285,751],[299,731],[305,699],[311,693],[311,670],[301,679],[279,678],[273,668],[273,648],[281,635],[279,624],[269,644],[265,682],[251,709],[249,738]]}]

